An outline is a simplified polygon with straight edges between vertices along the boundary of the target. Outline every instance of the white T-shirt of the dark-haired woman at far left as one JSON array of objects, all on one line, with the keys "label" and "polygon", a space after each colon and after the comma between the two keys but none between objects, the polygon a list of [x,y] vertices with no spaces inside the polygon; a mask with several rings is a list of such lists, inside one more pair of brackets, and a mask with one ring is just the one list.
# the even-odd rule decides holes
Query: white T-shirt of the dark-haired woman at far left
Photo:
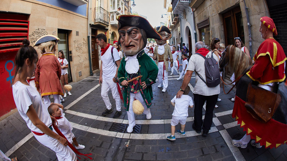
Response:
[{"label": "white T-shirt of the dark-haired woman at far left", "polygon": [[12,92],[19,114],[25,120],[30,130],[43,133],[32,123],[26,114],[31,104],[33,104],[39,119],[48,127],[52,125],[52,120],[48,113],[48,109],[43,104],[41,96],[35,88],[17,81],[14,85],[12,85]]}]

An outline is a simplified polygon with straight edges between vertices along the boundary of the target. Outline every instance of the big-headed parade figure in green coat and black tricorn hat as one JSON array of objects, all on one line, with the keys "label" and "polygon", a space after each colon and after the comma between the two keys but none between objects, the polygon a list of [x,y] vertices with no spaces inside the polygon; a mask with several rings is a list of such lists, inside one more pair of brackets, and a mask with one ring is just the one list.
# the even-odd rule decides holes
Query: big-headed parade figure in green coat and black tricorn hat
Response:
[{"label": "big-headed parade figure in green coat and black tricorn hat", "polygon": [[141,103],[146,119],[151,118],[150,106],[152,84],[157,78],[157,65],[144,52],[147,38],[161,39],[150,23],[137,15],[119,15],[118,44],[122,45],[125,58],[118,70],[118,81],[123,86],[124,107],[128,114],[127,132],[133,132],[135,126],[134,100]]}]

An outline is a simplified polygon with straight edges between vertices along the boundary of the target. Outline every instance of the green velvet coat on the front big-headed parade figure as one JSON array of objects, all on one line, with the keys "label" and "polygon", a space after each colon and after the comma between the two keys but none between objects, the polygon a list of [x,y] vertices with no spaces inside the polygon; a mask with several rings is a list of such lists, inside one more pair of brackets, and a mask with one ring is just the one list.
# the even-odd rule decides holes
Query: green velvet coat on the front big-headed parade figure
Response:
[{"label": "green velvet coat on the front big-headed parade figure", "polygon": [[[151,106],[151,100],[153,99],[152,96],[152,84],[156,83],[155,80],[157,79],[158,74],[158,67],[154,63],[150,57],[144,53],[144,50],[142,50],[138,56],[137,59],[139,61],[139,71],[142,75],[141,82],[146,82],[146,88],[143,89],[140,86],[140,93],[141,96],[143,96],[143,100],[146,103],[146,106],[149,108]],[[130,80],[130,74],[126,72],[126,61],[122,59],[121,65],[119,66],[118,70],[118,77],[119,77],[119,84],[122,83],[124,80]],[[125,110],[128,111],[129,104],[130,104],[130,86],[123,86],[123,98],[124,98],[124,107]]]}]

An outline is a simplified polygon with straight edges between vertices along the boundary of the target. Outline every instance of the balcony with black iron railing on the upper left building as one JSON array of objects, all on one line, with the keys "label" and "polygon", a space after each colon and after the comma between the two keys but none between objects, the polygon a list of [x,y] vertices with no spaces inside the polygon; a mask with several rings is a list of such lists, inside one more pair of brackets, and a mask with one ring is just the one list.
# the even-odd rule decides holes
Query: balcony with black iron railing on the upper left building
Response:
[{"label": "balcony with black iron railing on the upper left building", "polygon": [[108,23],[110,22],[110,17],[109,17],[109,13],[107,10],[105,10],[102,7],[96,7],[95,8],[95,14],[94,14],[94,18],[95,18],[95,25],[102,25],[104,27],[108,27]]}]

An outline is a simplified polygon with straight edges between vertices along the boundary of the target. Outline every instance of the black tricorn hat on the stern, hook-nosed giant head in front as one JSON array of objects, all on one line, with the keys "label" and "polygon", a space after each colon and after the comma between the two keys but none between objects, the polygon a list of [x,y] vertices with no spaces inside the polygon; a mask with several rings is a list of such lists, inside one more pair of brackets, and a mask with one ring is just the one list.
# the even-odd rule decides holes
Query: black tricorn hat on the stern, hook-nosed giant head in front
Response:
[{"label": "black tricorn hat on the stern, hook-nosed giant head in front", "polygon": [[[135,26],[146,31],[147,38],[159,39],[159,40],[161,39],[161,36],[157,33],[157,31],[154,30],[154,28],[150,25],[148,20],[146,20],[141,16],[122,14],[117,16],[117,20],[119,21],[118,30],[120,30],[125,26]],[[121,42],[119,37],[118,44],[120,43]]]}]

